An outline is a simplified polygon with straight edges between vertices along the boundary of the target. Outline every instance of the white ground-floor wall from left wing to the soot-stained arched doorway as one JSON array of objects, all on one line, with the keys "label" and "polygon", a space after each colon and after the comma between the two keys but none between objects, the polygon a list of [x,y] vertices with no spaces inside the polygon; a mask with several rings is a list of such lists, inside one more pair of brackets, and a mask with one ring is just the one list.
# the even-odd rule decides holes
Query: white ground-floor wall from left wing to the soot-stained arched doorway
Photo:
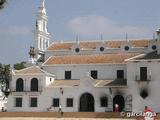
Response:
[{"label": "white ground-floor wall from left wing to the soot-stained arched doorway", "polygon": [[[21,92],[11,93],[8,98],[8,111],[47,111],[52,105],[53,98],[59,98],[64,112],[78,112],[80,107],[80,97],[84,93],[90,93],[94,97],[95,112],[105,112],[113,110],[113,97],[116,95],[116,89],[113,94],[109,92],[109,88],[97,88],[93,86],[94,80],[90,77],[84,77],[80,80],[80,86],[75,87],[47,87],[42,92]],[[61,93],[60,88],[63,90]],[[124,98],[127,95],[126,88],[119,88]],[[126,94],[126,95],[125,95]],[[106,96],[108,98],[108,107],[100,106],[100,98]],[[15,107],[15,98],[22,97],[22,107]],[[38,107],[30,107],[30,98],[38,98]],[[73,98],[73,107],[66,107],[66,99]],[[59,107],[52,108],[54,112],[58,112]]]}]

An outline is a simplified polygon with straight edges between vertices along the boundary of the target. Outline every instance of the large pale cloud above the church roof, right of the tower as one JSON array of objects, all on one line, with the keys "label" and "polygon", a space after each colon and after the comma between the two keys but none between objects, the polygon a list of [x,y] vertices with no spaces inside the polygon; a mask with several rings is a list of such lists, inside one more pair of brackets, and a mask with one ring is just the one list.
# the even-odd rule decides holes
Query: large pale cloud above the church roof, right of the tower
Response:
[{"label": "large pale cloud above the church roof, right of the tower", "polygon": [[120,25],[104,16],[88,15],[71,19],[67,26],[73,33],[81,36],[103,34],[108,37],[150,37],[152,31],[145,27]]}]

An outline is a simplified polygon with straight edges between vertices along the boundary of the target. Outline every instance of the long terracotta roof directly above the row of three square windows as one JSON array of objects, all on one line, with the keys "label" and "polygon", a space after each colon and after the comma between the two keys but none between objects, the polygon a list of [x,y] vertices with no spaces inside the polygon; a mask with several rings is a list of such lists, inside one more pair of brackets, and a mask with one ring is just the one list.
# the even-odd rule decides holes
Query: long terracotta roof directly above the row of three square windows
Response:
[{"label": "long terracotta roof directly above the row of three square windows", "polygon": [[125,59],[138,55],[137,53],[97,54],[97,55],[68,55],[50,57],[44,65],[54,64],[98,64],[98,63],[125,63]]}]

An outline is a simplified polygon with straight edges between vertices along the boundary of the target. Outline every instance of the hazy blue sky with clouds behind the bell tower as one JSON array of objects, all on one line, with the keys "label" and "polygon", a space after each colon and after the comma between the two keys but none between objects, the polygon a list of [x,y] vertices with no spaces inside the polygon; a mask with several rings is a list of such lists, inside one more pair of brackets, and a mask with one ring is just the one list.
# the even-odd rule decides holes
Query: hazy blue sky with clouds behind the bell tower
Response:
[{"label": "hazy blue sky with clouds behind the bell tower", "polygon": [[[7,0],[0,10],[0,63],[27,61],[41,0]],[[160,0],[46,0],[50,42],[151,39]]]}]

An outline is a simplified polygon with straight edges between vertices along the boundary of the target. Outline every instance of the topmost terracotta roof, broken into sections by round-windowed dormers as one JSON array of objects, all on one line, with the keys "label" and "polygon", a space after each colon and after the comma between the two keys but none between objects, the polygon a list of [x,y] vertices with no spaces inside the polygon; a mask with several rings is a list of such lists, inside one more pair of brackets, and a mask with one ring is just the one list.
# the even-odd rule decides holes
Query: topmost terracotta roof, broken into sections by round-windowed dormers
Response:
[{"label": "topmost terracotta roof, broken into sections by round-windowed dormers", "polygon": [[[107,48],[119,48],[121,44],[125,41],[104,41],[104,44]],[[79,42],[80,48],[83,49],[95,49],[98,44],[101,44],[100,41],[92,42]],[[130,40],[130,43],[134,47],[146,47],[149,43],[149,40]],[[75,42],[64,42],[64,43],[54,43],[50,45],[47,50],[69,50],[75,45]]]}]

